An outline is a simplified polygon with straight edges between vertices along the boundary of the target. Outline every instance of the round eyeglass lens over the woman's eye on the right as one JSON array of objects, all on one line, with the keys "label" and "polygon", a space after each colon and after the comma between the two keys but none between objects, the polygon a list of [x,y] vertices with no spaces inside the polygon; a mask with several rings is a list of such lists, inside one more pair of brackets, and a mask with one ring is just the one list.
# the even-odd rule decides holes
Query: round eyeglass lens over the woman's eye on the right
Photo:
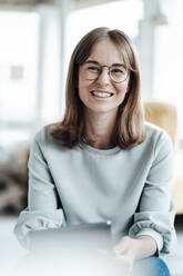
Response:
[{"label": "round eyeglass lens over the woman's eye on the right", "polygon": [[123,66],[112,66],[110,77],[115,82],[122,82],[128,78],[128,69]]}]

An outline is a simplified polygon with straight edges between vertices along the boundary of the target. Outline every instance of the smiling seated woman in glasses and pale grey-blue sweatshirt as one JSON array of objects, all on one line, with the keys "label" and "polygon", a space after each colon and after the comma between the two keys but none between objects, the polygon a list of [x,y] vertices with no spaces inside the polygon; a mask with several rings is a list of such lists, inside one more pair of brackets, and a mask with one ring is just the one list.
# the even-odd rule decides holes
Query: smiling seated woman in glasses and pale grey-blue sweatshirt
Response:
[{"label": "smiling seated woman in glasses and pale grey-blue sweatshirt", "polygon": [[63,120],[34,138],[18,239],[29,247],[30,230],[111,220],[119,262],[132,272],[143,259],[156,267],[153,275],[170,275],[159,257],[148,257],[170,253],[174,239],[172,160],[167,134],[144,122],[131,40],[92,30],[71,57]]}]

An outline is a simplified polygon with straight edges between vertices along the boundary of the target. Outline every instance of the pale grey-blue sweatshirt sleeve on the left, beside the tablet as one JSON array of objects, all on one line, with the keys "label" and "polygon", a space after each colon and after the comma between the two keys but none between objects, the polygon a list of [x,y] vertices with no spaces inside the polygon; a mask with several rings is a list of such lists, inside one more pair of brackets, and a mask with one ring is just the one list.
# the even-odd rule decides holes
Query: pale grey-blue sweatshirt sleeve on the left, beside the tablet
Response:
[{"label": "pale grey-blue sweatshirt sleeve on the left, beside the tablet", "polygon": [[42,132],[35,136],[30,149],[28,207],[21,211],[14,227],[18,240],[28,249],[31,246],[30,231],[65,224],[63,210],[58,208],[57,188],[47,164],[42,136]]}]

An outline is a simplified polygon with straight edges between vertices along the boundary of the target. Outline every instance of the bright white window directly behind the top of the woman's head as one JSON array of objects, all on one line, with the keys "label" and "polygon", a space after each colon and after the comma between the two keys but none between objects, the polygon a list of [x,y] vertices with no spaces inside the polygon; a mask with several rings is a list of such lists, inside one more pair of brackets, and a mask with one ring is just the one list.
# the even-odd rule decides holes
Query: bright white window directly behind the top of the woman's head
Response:
[{"label": "bright white window directly behind the top of the woman's head", "polygon": [[[102,14],[102,16],[101,16]],[[143,17],[142,0],[112,1],[70,12],[67,31],[67,63],[78,41],[96,27],[121,29],[132,39],[139,34],[139,20]]]}]

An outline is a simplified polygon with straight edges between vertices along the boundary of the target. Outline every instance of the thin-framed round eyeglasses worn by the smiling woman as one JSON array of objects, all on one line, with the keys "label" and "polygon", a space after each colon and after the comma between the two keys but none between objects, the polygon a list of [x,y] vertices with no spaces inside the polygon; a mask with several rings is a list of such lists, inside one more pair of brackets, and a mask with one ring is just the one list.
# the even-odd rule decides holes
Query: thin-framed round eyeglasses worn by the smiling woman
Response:
[{"label": "thin-framed round eyeglasses worn by the smiling woman", "polygon": [[129,69],[124,65],[115,63],[112,66],[101,66],[96,61],[85,61],[82,65],[83,73],[87,80],[96,80],[102,72],[102,68],[108,68],[109,77],[112,81],[120,83],[126,80]]}]

